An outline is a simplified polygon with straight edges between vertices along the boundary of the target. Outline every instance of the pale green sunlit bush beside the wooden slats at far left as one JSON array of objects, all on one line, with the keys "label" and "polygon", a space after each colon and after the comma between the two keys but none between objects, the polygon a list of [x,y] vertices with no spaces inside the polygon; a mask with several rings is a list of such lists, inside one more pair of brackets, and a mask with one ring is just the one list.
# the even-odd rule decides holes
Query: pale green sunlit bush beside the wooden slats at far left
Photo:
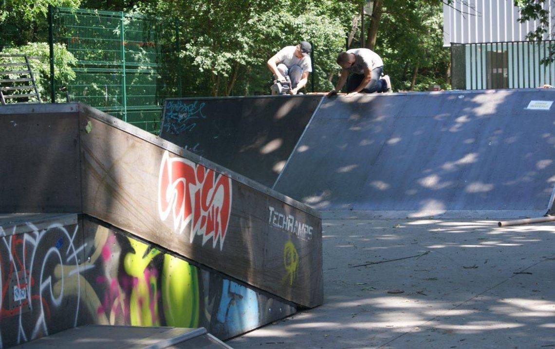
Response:
[{"label": "pale green sunlit bush beside the wooden slats at far left", "polygon": [[[29,59],[29,65],[31,65],[41,99],[48,101],[50,96],[50,55],[48,43],[28,43],[21,47],[7,48],[2,51],[2,54],[24,54],[39,57],[38,59]],[[69,81],[75,79],[75,73],[71,66],[77,63],[77,60],[63,45],[54,45],[54,63],[56,86],[67,85]]]}]

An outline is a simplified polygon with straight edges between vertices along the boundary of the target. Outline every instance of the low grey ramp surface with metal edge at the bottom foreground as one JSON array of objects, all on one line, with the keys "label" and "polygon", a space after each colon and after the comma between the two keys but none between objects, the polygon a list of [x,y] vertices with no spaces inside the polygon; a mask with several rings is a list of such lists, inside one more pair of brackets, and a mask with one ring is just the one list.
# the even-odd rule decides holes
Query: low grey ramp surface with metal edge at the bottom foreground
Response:
[{"label": "low grey ramp surface with metal edge at the bottom foreground", "polygon": [[49,347],[72,349],[231,348],[218,338],[211,336],[204,327],[183,329],[99,325],[75,327],[17,346],[20,349]]}]

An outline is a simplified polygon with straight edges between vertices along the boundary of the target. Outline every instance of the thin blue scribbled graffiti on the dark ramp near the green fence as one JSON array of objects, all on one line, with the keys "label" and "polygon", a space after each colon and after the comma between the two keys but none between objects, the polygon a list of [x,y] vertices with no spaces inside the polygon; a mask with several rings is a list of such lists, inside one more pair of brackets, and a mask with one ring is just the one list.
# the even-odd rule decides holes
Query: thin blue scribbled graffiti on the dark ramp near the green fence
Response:
[{"label": "thin blue scribbled graffiti on the dark ramp near the green fence", "polygon": [[206,119],[203,114],[204,102],[195,100],[192,103],[185,101],[167,101],[164,129],[174,135],[183,132],[191,132],[195,128],[198,119]]}]

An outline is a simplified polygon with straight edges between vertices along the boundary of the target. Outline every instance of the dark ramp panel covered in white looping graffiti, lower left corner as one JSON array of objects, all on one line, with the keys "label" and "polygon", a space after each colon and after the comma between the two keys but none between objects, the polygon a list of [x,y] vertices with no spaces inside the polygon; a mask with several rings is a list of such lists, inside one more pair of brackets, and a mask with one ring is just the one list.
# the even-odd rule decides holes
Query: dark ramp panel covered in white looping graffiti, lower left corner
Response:
[{"label": "dark ramp panel covered in white looping graffiti, lower left corner", "polygon": [[87,268],[80,264],[78,229],[58,222],[0,226],[0,348],[77,326]]}]

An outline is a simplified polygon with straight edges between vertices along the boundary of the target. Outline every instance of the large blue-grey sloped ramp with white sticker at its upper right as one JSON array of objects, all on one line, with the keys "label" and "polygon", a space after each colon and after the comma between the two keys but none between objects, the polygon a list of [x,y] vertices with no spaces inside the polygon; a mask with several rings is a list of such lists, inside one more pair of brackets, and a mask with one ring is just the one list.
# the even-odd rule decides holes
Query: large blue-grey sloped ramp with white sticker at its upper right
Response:
[{"label": "large blue-grey sloped ramp with white sticker at its upper right", "polygon": [[555,106],[528,106],[553,100],[545,89],[326,99],[274,188],[329,212],[543,214]]}]

